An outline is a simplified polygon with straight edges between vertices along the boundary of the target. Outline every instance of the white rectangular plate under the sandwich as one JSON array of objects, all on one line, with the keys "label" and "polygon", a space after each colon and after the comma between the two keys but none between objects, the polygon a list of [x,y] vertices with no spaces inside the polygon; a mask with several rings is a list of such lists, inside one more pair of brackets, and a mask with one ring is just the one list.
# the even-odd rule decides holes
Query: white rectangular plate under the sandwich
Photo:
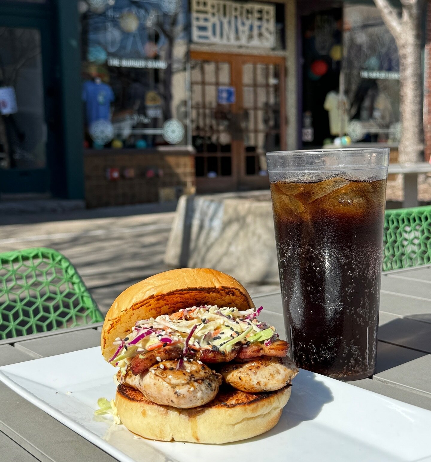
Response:
[{"label": "white rectangular plate under the sandwich", "polygon": [[302,370],[278,425],[259,437],[211,446],[138,438],[94,416],[99,397],[115,396],[114,372],[95,347],[0,367],[0,380],[124,462],[431,461],[430,411]]}]

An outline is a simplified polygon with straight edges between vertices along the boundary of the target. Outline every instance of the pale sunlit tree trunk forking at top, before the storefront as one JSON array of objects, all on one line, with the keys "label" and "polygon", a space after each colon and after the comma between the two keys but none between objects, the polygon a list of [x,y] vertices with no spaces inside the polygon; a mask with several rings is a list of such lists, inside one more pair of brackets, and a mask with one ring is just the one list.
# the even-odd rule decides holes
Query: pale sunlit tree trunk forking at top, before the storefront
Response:
[{"label": "pale sunlit tree trunk forking at top, before the storefront", "polygon": [[399,18],[387,0],[374,0],[395,38],[400,58],[401,140],[398,162],[418,162],[424,149],[420,15],[422,0],[401,0]]}]

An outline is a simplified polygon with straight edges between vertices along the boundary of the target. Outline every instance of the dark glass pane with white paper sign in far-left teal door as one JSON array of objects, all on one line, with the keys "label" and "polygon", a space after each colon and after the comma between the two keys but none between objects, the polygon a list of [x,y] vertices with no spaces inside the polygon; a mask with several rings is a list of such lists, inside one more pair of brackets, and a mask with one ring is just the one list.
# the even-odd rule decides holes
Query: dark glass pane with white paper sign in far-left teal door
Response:
[{"label": "dark glass pane with white paper sign in far-left teal door", "polygon": [[46,166],[42,52],[37,29],[0,28],[0,168]]}]

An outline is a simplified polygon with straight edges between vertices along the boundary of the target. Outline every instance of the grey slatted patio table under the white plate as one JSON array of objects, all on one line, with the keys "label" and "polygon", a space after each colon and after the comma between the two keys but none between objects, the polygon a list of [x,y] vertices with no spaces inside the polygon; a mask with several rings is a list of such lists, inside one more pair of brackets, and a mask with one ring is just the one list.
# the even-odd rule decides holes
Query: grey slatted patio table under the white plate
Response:
[{"label": "grey slatted patio table under the white plate", "polygon": [[[253,297],[283,333],[280,293]],[[99,345],[101,323],[0,342],[0,365]],[[383,274],[377,373],[349,382],[431,410],[431,265]],[[101,360],[102,356],[100,357]],[[109,454],[0,383],[0,454],[7,462],[105,462]]]}]

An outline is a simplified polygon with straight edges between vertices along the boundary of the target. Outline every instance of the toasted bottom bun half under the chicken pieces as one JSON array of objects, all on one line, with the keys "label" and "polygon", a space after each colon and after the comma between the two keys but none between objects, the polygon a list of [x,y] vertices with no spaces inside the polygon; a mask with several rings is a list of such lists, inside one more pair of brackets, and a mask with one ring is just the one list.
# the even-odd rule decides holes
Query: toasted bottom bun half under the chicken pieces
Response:
[{"label": "toasted bottom bun half under the chicken pieces", "polygon": [[220,444],[251,438],[271,430],[279,421],[291,386],[268,393],[221,389],[204,406],[179,409],[161,406],[142,393],[119,385],[115,397],[121,422],[144,438]]}]

